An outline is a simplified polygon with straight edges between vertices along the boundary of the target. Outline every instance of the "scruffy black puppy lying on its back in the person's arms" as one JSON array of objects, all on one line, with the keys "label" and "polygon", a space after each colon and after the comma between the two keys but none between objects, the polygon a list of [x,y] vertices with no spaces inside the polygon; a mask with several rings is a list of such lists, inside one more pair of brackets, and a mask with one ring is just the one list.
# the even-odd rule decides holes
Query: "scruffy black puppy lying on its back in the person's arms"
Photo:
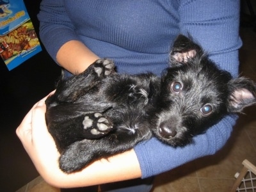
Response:
[{"label": "scruffy black puppy lying on its back in the person's arms", "polygon": [[222,116],[256,102],[255,83],[232,79],[186,36],[175,41],[170,63],[162,77],[131,76],[117,74],[110,60],[98,60],[61,80],[46,100],[61,170],[81,170],[152,134],[173,147],[186,145]]}]

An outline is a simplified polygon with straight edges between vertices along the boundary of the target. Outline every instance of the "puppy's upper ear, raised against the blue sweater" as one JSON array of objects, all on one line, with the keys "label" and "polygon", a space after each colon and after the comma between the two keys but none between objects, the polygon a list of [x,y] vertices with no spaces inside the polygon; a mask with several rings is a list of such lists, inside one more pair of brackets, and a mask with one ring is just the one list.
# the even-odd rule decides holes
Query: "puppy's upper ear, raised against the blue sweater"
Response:
[{"label": "puppy's upper ear, raised against the blue sweater", "polygon": [[171,65],[187,63],[189,59],[195,58],[202,49],[192,40],[184,35],[177,36],[170,54]]}]

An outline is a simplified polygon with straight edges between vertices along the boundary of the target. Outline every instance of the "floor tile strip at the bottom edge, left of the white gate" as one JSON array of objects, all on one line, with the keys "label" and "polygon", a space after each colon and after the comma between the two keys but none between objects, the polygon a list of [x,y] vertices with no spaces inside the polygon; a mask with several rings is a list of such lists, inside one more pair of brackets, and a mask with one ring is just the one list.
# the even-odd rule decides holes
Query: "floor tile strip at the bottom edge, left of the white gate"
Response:
[{"label": "floor tile strip at the bottom edge, left of the white gate", "polygon": [[228,192],[234,179],[199,179],[200,192]]}]

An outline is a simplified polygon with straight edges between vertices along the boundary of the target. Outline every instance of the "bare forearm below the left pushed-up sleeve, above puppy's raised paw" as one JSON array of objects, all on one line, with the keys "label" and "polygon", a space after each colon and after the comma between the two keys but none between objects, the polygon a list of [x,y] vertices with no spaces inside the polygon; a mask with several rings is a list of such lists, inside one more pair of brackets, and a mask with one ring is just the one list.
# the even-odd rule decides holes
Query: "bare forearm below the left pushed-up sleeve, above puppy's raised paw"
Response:
[{"label": "bare forearm below the left pushed-up sleeve, above puppy's raised paw", "polygon": [[80,74],[99,57],[82,42],[70,40],[57,52],[56,60],[72,74]]}]

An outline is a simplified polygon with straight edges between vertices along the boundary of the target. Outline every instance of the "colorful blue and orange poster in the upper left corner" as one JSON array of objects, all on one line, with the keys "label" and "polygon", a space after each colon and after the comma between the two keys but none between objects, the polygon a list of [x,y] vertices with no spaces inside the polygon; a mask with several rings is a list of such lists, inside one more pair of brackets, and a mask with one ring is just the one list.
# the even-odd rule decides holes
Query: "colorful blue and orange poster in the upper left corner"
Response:
[{"label": "colorful blue and orange poster in the upper left corner", "polygon": [[42,51],[22,0],[0,0],[0,55],[8,70]]}]

